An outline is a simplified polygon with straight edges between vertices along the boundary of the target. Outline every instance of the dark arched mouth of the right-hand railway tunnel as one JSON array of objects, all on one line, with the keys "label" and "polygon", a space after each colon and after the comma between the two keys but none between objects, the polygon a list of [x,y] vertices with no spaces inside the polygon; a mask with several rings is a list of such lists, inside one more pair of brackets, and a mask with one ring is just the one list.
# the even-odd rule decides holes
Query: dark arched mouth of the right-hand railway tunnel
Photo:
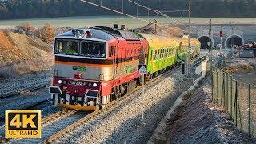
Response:
[{"label": "dark arched mouth of the right-hand railway tunnel", "polygon": [[232,48],[232,43],[233,45],[242,46],[244,44],[244,39],[237,34],[230,35],[226,38],[224,42],[225,48]]}]

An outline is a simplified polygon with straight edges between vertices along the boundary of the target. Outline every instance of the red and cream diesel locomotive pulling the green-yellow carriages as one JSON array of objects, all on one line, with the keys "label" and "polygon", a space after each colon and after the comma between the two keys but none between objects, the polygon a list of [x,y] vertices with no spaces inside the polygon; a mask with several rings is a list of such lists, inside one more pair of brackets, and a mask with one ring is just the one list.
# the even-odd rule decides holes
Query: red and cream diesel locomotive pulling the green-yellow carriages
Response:
[{"label": "red and cream diesel locomotive pulling the green-yellow carriages", "polygon": [[54,38],[54,105],[99,110],[142,83],[148,42],[127,30],[96,26]]}]

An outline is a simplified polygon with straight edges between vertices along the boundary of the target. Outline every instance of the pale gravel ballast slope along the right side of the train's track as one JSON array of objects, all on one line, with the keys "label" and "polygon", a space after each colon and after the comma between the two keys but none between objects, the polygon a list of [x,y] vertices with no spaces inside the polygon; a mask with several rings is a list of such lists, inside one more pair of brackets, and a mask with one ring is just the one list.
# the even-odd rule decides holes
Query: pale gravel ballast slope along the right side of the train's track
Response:
[{"label": "pale gravel ballast slope along the right side of the train's track", "polygon": [[93,118],[83,126],[60,139],[60,142],[79,143],[146,143],[158,122],[170,109],[178,96],[192,85],[183,80],[181,70],[174,70],[161,82],[145,90],[142,118],[142,93],[134,93],[101,118]]}]

